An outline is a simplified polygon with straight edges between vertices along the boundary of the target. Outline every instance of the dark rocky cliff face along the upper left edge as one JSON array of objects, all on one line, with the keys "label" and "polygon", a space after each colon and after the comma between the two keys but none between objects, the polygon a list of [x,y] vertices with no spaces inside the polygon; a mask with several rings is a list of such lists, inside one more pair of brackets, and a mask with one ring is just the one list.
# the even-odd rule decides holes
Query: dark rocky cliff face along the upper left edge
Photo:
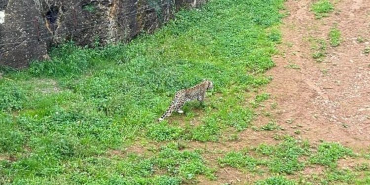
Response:
[{"label": "dark rocky cliff face along the upper left edge", "polygon": [[206,0],[0,0],[0,65],[27,67],[51,45],[128,41]]}]

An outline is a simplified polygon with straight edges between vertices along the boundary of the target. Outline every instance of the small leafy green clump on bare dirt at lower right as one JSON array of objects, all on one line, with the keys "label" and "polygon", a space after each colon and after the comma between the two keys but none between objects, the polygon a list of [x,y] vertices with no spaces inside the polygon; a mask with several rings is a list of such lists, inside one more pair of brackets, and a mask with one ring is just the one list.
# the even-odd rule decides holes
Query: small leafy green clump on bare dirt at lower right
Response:
[{"label": "small leafy green clump on bare dirt at lower right", "polygon": [[335,167],[338,159],[352,155],[354,153],[349,148],[345,148],[338,143],[324,142],[319,145],[317,153],[311,156],[310,161],[313,164]]}]

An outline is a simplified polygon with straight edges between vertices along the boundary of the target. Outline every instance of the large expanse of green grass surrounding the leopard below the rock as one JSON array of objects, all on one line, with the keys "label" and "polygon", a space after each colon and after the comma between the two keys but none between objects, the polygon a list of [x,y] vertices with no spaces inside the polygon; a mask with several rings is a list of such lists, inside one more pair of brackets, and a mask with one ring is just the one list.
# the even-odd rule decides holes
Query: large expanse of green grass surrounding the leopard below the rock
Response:
[{"label": "large expanse of green grass surrounding the leopard below the rock", "polygon": [[[210,0],[128,44],[86,48],[68,42],[50,53],[51,61],[7,72],[0,79],[0,156],[15,160],[0,162],[0,184],[176,185],[199,175],[213,179],[197,151],[106,155],[136,140],[219,141],[247,129],[254,110],[244,104],[245,92],[271,80],[264,72],[274,66],[283,2]],[[156,122],[177,90],[204,78],[215,89],[203,105],[186,104],[185,114],[174,113],[171,124]]]}]

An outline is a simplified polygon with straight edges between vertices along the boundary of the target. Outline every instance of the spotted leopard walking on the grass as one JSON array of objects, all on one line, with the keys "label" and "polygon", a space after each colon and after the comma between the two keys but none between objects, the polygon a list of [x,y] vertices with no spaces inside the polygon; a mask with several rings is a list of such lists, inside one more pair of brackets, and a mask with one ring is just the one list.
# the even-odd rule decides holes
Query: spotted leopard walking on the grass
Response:
[{"label": "spotted leopard walking on the grass", "polygon": [[162,121],[164,118],[170,116],[173,111],[184,113],[181,108],[186,102],[195,99],[202,102],[204,100],[204,97],[206,96],[206,91],[212,88],[213,82],[209,80],[204,80],[193,87],[182,89],[176,92],[175,98],[173,99],[171,105],[168,107],[167,111],[160,118],[158,118],[158,121]]}]

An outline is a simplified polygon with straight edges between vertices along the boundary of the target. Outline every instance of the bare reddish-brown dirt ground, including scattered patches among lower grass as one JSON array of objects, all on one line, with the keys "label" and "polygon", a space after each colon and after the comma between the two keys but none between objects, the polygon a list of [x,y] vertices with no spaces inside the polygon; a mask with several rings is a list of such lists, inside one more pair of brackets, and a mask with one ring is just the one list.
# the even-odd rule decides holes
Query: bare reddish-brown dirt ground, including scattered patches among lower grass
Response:
[{"label": "bare reddish-brown dirt ground, including scattered patches among lower grass", "polygon": [[[338,0],[335,11],[329,17],[319,20],[310,11],[312,2],[314,0],[287,0],[285,3],[290,15],[283,20],[282,44],[278,46],[284,55],[274,57],[276,67],[267,73],[273,76],[273,80],[264,90],[272,99],[264,103],[265,107],[259,110],[261,115],[253,122],[254,126],[260,127],[275,119],[286,130],[248,129],[239,133],[236,141],[186,143],[186,149],[205,151],[202,155],[211,168],[218,166],[218,157],[222,157],[227,151],[279,142],[274,140],[274,135],[290,134],[308,139],[311,144],[332,141],[357,151],[369,150],[370,56],[363,51],[370,46],[370,0]],[[341,32],[342,41],[339,46],[332,47],[328,34],[335,25]],[[307,39],[309,37],[326,39],[327,56],[322,63],[312,58],[312,43]],[[365,38],[365,42],[356,42],[357,37]],[[290,63],[298,65],[300,69],[287,68]],[[277,103],[276,109],[269,106],[272,103]],[[263,111],[271,112],[272,116],[263,116]],[[184,125],[183,119],[174,117],[176,118],[169,119]],[[198,117],[192,120],[194,125],[199,121],[197,119]],[[295,133],[296,130],[300,130],[300,133]],[[123,153],[144,153],[146,150],[146,147],[134,146]],[[111,151],[112,155],[121,153],[122,151]],[[360,162],[369,161],[340,160],[339,167],[353,168]],[[299,174],[289,178],[321,174],[324,169],[323,166],[307,166]],[[197,178],[198,184],[253,184],[256,180],[266,178],[268,174],[259,176],[225,167],[218,168],[216,175],[216,181],[200,176]]]}]

